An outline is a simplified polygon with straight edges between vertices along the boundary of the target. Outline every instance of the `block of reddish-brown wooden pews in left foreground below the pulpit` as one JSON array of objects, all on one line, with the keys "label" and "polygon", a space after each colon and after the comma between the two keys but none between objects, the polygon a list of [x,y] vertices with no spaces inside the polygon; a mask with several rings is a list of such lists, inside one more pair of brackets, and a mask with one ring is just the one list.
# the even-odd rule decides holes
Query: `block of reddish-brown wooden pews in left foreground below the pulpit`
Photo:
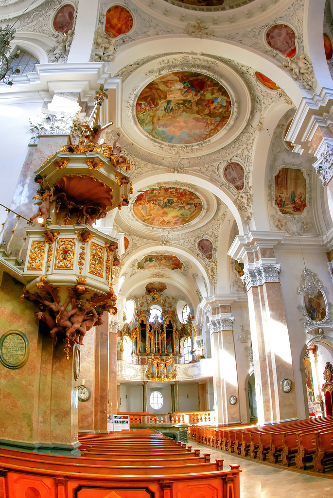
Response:
[{"label": "block of reddish-brown wooden pews in left foreground below the pulpit", "polygon": [[79,440],[79,458],[0,448],[0,497],[239,498],[239,465],[225,471],[223,459],[210,462],[210,454],[157,431],[80,433]]}]

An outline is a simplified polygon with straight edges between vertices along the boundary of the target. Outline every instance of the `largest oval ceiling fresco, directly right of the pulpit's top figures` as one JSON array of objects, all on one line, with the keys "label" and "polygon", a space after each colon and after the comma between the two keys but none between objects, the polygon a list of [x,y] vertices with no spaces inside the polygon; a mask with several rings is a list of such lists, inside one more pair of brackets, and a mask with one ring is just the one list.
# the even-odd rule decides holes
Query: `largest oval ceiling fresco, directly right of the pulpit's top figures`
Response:
[{"label": "largest oval ceiling fresco, directly right of the pulpit's top figures", "polygon": [[151,137],[184,145],[219,133],[230,117],[231,101],[210,76],[179,71],[150,82],[140,93],[135,112]]}]

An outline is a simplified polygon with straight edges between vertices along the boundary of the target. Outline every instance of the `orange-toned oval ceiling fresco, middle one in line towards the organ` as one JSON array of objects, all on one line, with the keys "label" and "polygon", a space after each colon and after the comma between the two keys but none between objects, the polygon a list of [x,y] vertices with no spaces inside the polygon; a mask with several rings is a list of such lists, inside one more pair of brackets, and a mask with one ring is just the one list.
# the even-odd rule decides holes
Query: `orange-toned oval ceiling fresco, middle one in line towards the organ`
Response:
[{"label": "orange-toned oval ceiling fresco, middle one in line towards the organ", "polygon": [[194,192],[159,187],[142,192],[134,201],[134,215],[153,227],[178,227],[198,218],[203,205]]}]

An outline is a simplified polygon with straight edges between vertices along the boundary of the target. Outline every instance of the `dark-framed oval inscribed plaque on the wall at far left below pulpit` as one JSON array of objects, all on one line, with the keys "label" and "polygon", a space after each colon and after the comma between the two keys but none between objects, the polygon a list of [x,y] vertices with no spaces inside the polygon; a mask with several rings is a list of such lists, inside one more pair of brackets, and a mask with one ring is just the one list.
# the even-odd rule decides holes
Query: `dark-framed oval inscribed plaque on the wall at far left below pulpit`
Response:
[{"label": "dark-framed oval inscribed plaque on the wall at far left below pulpit", "polygon": [[29,357],[29,341],[23,332],[8,330],[0,337],[0,362],[7,369],[20,369]]}]

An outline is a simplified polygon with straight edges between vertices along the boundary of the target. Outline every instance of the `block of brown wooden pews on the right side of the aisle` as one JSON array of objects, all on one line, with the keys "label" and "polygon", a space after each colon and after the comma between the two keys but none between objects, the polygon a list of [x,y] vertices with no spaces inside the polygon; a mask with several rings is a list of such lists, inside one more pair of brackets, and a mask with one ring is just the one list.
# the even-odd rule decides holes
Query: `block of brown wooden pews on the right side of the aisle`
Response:
[{"label": "block of brown wooden pews on the right side of the aisle", "polygon": [[326,472],[333,467],[332,417],[268,426],[191,426],[189,439],[243,457]]}]

